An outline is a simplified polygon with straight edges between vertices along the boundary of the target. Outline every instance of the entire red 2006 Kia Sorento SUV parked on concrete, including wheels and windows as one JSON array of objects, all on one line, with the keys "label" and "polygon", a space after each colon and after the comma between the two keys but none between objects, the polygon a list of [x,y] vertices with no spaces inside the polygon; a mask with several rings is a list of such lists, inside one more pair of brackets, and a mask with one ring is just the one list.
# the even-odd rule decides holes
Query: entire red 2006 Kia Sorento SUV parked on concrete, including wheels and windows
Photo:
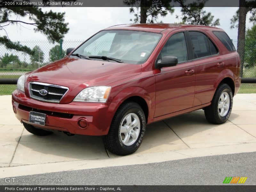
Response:
[{"label": "entire red 2006 Kia Sorento SUV parked on concrete, including wheels and windows", "polygon": [[226,122],[240,87],[239,56],[219,28],[113,26],[67,55],[19,78],[16,117],[36,135],[102,135],[118,155],[136,151],[155,121],[203,108]]}]

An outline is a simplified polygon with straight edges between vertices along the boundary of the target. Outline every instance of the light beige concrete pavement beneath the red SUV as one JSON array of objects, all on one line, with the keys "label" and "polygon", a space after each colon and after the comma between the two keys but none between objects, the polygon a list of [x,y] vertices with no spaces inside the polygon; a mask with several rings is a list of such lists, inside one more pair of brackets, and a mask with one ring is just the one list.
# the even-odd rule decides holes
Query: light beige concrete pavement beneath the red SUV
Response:
[{"label": "light beige concrete pavement beneath the red SUV", "polygon": [[0,96],[0,116],[0,178],[256,151],[256,94],[236,95],[222,125],[209,124],[203,110],[150,124],[130,156],[106,151],[100,137],[30,134],[15,118],[10,95]]}]

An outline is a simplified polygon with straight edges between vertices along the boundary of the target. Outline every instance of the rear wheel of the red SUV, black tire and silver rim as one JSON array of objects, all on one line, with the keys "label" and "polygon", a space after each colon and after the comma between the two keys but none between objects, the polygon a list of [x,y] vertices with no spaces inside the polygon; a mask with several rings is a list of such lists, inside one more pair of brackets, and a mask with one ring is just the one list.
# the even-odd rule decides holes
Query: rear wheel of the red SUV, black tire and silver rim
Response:
[{"label": "rear wheel of the red SUV, black tire and silver rim", "polygon": [[233,93],[228,84],[220,84],[212,98],[212,104],[204,108],[204,115],[212,124],[225,123],[232,110]]}]

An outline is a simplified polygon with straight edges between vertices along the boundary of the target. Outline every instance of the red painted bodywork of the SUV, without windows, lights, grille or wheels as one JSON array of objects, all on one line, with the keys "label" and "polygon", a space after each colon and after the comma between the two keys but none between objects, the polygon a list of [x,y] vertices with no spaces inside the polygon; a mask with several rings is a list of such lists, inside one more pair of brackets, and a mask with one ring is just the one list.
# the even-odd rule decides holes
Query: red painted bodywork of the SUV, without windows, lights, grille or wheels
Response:
[{"label": "red painted bodywork of the SUV, without windows, lights, grille or wheels", "polygon": [[[20,90],[12,93],[13,108],[20,122],[28,123],[29,111],[33,108],[47,112],[45,126],[37,125],[37,127],[74,134],[106,135],[116,110],[131,97],[140,97],[146,102],[149,124],[210,105],[214,92],[225,78],[231,79],[234,83],[234,94],[239,90],[241,83],[239,56],[237,52],[229,52],[212,33],[212,31],[223,31],[222,29],[194,25],[129,24],[113,26],[105,30],[148,31],[160,33],[162,38],[143,64],[66,57],[28,73],[25,78],[25,93]],[[216,45],[219,53],[180,63],[177,66],[156,69],[156,58],[169,37],[177,32],[189,30],[207,35]],[[218,63],[223,65],[219,66]],[[185,71],[190,69],[195,73],[185,75]],[[60,103],[43,102],[30,98],[29,82],[66,86],[69,90]],[[81,90],[97,85],[111,86],[106,103],[73,101]],[[54,113],[60,113],[60,116],[55,116]],[[61,114],[72,116],[66,118]],[[87,121],[86,128],[80,128],[77,124],[81,118]]]}]

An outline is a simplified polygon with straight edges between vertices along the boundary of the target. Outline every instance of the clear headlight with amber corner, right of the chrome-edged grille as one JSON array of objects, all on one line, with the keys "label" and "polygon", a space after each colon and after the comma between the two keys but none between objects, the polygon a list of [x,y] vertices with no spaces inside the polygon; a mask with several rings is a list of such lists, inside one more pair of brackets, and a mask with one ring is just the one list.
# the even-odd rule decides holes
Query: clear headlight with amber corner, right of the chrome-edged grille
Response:
[{"label": "clear headlight with amber corner, right of the chrome-edged grille", "polygon": [[108,99],[110,89],[111,87],[109,86],[87,87],[76,95],[74,101],[105,103]]}]

